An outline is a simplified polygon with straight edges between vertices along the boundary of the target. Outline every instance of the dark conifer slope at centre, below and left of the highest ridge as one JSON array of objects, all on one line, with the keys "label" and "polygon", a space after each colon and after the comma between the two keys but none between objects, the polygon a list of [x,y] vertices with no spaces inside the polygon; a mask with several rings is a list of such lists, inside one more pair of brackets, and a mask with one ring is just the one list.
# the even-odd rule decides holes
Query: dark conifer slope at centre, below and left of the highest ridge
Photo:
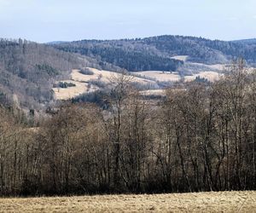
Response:
[{"label": "dark conifer slope at centre, below and left of the highest ridge", "polygon": [[145,70],[176,71],[177,67],[183,64],[182,61],[160,54],[159,51],[155,51],[150,46],[144,47],[143,45],[137,45],[137,43],[93,40],[60,43],[55,47],[67,52],[88,55],[98,60],[107,61],[130,72]]}]

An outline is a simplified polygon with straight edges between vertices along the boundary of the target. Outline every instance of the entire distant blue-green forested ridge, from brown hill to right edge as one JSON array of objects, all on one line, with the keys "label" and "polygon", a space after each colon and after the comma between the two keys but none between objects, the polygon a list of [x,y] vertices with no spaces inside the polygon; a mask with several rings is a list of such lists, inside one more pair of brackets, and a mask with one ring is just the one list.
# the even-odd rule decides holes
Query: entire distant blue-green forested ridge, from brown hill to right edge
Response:
[{"label": "entire distant blue-green forested ridge, from brown hill to right edge", "polygon": [[256,63],[253,43],[224,42],[202,37],[159,36],[121,40],[81,40],[55,43],[58,49],[108,61],[128,71],[175,70],[180,62],[175,55],[189,55],[188,60],[206,64],[226,63],[243,57]]}]

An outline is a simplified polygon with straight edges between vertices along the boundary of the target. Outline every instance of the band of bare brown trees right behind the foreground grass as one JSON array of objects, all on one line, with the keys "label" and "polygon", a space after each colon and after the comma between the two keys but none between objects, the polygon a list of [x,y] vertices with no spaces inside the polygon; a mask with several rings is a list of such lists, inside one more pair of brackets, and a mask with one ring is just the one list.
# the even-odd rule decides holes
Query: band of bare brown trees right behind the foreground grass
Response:
[{"label": "band of bare brown trees right behind the foreground grass", "polygon": [[[122,76],[108,108],[66,104],[44,121],[1,108],[0,193],[256,189],[256,73],[143,99]],[[28,124],[38,127],[28,128]]]}]

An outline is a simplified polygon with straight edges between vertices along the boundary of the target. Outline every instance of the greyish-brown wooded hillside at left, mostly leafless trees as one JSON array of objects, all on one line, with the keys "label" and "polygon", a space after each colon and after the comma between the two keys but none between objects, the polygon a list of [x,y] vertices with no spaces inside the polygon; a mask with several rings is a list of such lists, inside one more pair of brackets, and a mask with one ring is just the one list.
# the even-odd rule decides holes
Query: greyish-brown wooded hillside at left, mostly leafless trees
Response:
[{"label": "greyish-brown wooded hillside at left, mostly leafless trees", "polygon": [[44,44],[0,39],[0,102],[39,108],[52,100],[52,83],[85,62]]}]

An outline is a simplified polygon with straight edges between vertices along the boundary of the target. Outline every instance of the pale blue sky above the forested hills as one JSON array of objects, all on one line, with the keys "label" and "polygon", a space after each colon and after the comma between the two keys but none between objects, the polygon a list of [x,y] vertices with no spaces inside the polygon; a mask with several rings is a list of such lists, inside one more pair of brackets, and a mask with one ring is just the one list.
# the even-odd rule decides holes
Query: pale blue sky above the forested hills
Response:
[{"label": "pale blue sky above the forested hills", "polygon": [[184,35],[256,37],[256,0],[0,0],[0,37],[38,43]]}]

